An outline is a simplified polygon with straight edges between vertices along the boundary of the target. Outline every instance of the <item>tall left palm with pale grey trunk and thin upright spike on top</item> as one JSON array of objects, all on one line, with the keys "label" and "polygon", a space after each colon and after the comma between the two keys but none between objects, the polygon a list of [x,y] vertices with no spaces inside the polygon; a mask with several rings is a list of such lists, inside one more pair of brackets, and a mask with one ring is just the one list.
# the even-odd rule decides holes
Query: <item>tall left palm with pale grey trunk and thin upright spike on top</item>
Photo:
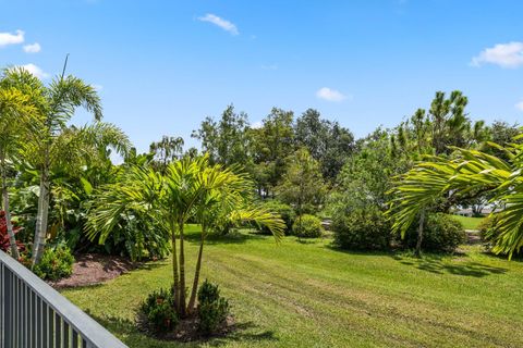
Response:
[{"label": "tall left palm with pale grey trunk and thin upright spike on top", "polygon": [[[126,136],[117,127],[99,122],[101,103],[96,89],[72,75],[60,76],[49,86],[26,72],[14,71],[8,80],[21,90],[31,90],[31,101],[39,115],[32,127],[32,136],[23,149],[23,157],[39,171],[39,197],[33,240],[32,262],[39,262],[48,229],[49,201],[51,192],[50,172],[52,166],[73,167],[93,150],[105,151],[111,145],[125,153],[130,148]],[[31,74],[29,74],[31,75]],[[68,126],[77,108],[83,107],[97,121],[94,125],[76,128]],[[89,152],[90,151],[90,152]]]}]

